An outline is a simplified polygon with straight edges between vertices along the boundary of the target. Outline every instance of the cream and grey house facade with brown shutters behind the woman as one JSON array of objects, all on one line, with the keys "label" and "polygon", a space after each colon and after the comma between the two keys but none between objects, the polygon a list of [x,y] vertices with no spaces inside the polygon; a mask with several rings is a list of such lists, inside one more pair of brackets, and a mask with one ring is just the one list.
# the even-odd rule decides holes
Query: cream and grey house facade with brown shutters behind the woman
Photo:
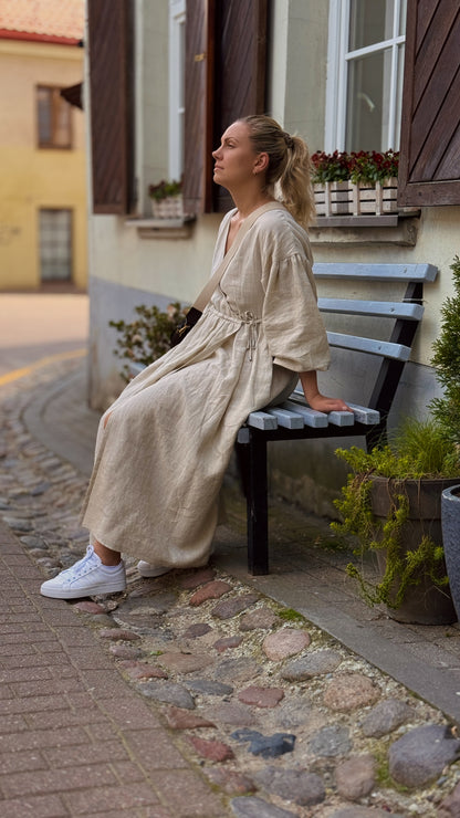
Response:
[{"label": "cream and grey house facade with brown shutters behind the woman", "polygon": [[[138,304],[191,303],[206,282],[230,207],[212,186],[211,150],[238,116],[264,112],[305,137],[312,151],[400,148],[398,213],[318,218],[310,234],[316,261],[439,269],[426,287],[426,314],[390,422],[426,413],[437,391],[431,345],[459,249],[457,6],[88,0],[93,406],[103,408],[122,388],[108,322],[129,319]],[[179,176],[191,219],[161,226],[151,218],[148,186]],[[321,387],[368,399],[359,366],[333,366]],[[333,450],[317,441],[295,443],[295,451],[279,444],[272,485],[332,514],[343,481]]]}]

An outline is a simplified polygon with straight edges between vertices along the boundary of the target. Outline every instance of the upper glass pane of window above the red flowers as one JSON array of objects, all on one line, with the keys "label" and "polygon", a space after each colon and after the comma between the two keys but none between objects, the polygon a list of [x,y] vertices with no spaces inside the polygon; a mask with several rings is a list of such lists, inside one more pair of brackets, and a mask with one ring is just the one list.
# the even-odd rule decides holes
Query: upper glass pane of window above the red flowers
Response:
[{"label": "upper glass pane of window above the red flowers", "polygon": [[395,0],[351,0],[349,51],[393,36],[394,3]]}]

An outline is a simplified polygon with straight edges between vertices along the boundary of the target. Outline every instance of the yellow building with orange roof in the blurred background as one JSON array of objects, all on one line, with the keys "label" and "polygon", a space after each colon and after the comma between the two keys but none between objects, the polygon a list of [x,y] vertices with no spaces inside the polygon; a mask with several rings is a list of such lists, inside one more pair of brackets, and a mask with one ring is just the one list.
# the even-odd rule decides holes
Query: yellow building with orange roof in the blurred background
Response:
[{"label": "yellow building with orange roof in the blurred background", "polygon": [[0,2],[0,291],[86,289],[83,32],[84,0]]}]

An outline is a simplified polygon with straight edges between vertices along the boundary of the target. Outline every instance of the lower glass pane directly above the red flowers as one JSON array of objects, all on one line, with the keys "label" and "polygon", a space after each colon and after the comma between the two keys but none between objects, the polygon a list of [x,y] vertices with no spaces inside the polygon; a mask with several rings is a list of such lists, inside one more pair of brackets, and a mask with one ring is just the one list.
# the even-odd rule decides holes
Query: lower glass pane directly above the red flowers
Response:
[{"label": "lower glass pane directly above the red flowers", "polygon": [[348,63],[345,150],[379,150],[387,144],[390,49]]}]

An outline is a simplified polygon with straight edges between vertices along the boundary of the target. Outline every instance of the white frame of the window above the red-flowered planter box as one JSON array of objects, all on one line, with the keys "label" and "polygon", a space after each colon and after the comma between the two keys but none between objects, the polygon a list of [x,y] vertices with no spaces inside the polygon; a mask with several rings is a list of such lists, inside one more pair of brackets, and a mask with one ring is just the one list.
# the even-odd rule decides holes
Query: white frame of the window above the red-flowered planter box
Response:
[{"label": "white frame of the window above the red-flowered planter box", "polygon": [[391,49],[391,72],[388,88],[391,104],[389,105],[388,144],[381,145],[381,150],[395,148],[399,144],[399,134],[396,133],[397,124],[400,122],[396,109],[398,98],[398,59],[400,59],[400,46],[406,41],[405,34],[398,33],[400,7],[401,0],[395,0],[393,36],[390,39],[379,43],[373,43],[364,49],[348,51],[351,0],[330,0],[324,135],[324,150],[328,154],[334,150],[345,150],[349,61],[387,49]]}]

